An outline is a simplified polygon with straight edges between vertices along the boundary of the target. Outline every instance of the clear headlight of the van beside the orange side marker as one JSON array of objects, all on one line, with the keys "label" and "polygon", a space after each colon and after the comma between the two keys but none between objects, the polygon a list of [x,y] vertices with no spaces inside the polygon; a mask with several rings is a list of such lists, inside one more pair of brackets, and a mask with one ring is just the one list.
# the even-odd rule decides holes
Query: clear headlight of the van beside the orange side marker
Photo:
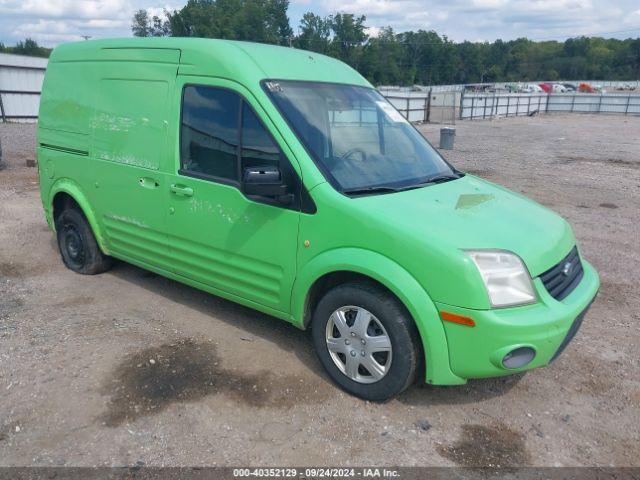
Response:
[{"label": "clear headlight of the van beside the orange side marker", "polygon": [[531,275],[520,257],[503,250],[467,250],[478,267],[493,307],[532,303],[536,300]]}]

